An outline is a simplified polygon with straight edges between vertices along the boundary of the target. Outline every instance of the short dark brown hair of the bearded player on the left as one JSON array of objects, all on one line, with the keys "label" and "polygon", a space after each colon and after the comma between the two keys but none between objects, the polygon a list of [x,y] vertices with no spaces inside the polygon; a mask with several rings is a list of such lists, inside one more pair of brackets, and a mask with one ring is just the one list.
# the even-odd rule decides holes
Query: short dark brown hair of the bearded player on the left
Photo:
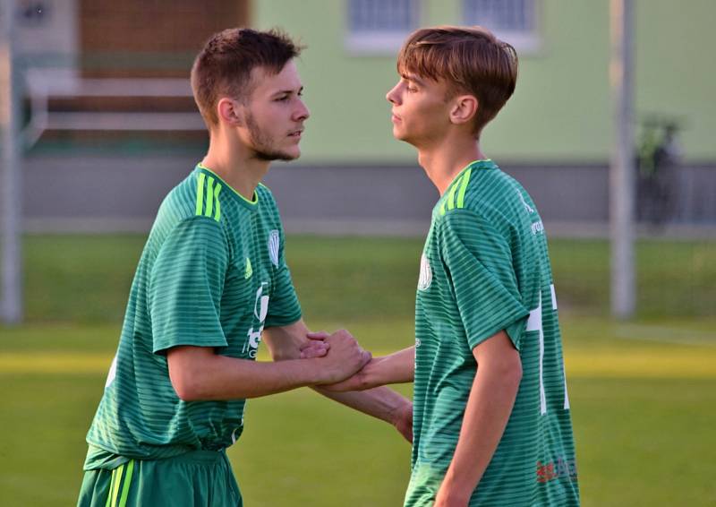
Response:
[{"label": "short dark brown hair of the bearded player on the left", "polygon": [[254,68],[280,73],[302,49],[276,29],[233,28],[212,35],[192,65],[194,100],[209,128],[218,123],[216,107],[221,97],[246,99],[251,95]]}]

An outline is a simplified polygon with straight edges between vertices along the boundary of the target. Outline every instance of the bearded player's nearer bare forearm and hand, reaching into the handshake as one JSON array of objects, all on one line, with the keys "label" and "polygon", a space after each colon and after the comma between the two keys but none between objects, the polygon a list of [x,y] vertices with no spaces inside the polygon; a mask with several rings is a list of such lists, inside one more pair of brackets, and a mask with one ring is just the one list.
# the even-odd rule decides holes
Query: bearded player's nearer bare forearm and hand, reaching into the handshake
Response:
[{"label": "bearded player's nearer bare forearm and hand, reaching into the handshake", "polygon": [[207,347],[170,348],[169,378],[182,400],[256,398],[343,380],[371,358],[347,331],[338,331],[326,341],[330,356],[281,363],[220,356]]}]

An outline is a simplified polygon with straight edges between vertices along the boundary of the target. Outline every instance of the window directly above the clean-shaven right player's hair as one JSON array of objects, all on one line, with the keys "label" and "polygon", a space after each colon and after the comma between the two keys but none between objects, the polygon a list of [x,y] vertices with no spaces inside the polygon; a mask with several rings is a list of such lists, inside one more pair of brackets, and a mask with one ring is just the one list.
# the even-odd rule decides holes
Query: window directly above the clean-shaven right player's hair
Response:
[{"label": "window directly above the clean-shaven right player's hair", "polygon": [[540,0],[463,0],[463,19],[481,25],[509,42],[518,51],[536,51]]}]

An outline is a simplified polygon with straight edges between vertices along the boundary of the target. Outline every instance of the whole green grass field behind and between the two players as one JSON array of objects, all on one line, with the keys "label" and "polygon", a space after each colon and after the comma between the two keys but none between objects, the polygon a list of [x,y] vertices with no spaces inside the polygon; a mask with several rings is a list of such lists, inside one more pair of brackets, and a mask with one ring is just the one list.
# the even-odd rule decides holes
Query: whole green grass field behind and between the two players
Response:
[{"label": "whole green grass field behind and between the two players", "polygon": [[[140,236],[30,236],[28,322],[0,327],[0,505],[71,505]],[[413,340],[421,241],[292,237],[307,322],[381,354]],[[639,315],[611,322],[608,245],[550,243],[584,505],[716,504],[716,244],[638,245]],[[265,358],[265,357],[264,357]],[[409,386],[401,386],[409,393]],[[308,390],[251,400],[230,450],[250,507],[394,506],[409,446]]]}]

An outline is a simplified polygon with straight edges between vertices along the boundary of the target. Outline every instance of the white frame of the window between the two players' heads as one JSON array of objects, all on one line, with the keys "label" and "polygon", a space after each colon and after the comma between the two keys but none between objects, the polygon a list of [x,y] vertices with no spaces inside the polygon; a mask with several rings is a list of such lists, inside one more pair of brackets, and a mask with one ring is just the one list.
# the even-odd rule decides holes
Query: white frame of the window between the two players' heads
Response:
[{"label": "white frame of the window between the two players' heads", "polygon": [[345,0],[345,49],[357,56],[395,56],[422,20],[422,0],[410,0],[413,4],[413,26],[407,30],[353,30],[350,1]]}]

